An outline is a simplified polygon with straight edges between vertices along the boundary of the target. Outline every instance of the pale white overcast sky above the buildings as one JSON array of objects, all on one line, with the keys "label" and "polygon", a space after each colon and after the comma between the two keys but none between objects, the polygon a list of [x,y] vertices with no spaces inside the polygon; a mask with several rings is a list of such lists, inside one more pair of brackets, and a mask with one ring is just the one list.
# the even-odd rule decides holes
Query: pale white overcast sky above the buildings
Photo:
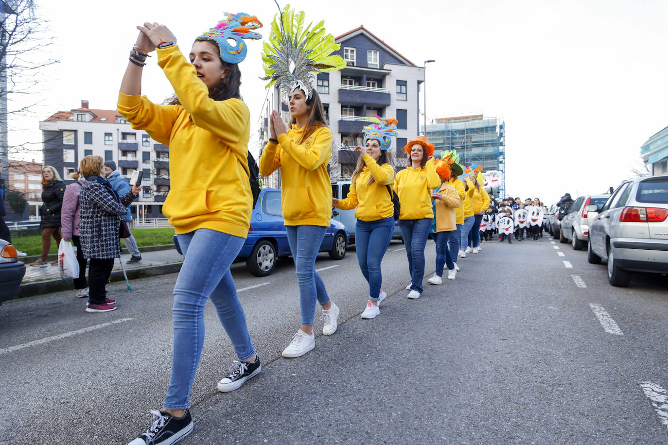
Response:
[{"label": "pale white overcast sky above the buildings", "polygon": [[[272,0],[39,3],[55,37],[51,55],[60,63],[43,76],[37,116],[10,123],[31,127],[28,134],[37,140],[39,120],[79,107],[81,99],[92,108],[116,107],[136,25],[164,23],[187,53],[193,39],[225,11],[257,15],[265,24],[259,29],[263,35],[277,11]],[[428,119],[468,111],[503,117],[506,190],[522,199],[538,196],[549,204],[565,191],[601,193],[618,185],[631,176],[640,145],[668,125],[665,0],[299,0],[291,5],[303,9],[307,21],[325,19],[335,36],[364,25],[416,65],[436,59],[426,72]],[[260,51],[260,41],[248,41],[240,64],[254,153],[266,93],[258,79]],[[142,85],[153,101],[172,93],[155,57],[144,68]],[[18,142],[10,135],[10,143]]]}]

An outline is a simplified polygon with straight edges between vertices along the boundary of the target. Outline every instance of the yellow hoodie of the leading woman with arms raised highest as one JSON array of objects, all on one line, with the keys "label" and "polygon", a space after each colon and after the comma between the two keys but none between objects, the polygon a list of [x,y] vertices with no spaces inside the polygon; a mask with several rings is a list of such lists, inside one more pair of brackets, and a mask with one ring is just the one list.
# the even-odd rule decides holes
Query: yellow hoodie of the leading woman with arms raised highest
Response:
[{"label": "yellow hoodie of the leading woman with arms raised highest", "polygon": [[176,45],[158,49],[158,65],[181,105],[120,93],[118,112],[132,128],[170,147],[170,191],[162,212],[177,234],[205,228],[246,238],[253,204],[248,107],[239,99],[210,99]]}]

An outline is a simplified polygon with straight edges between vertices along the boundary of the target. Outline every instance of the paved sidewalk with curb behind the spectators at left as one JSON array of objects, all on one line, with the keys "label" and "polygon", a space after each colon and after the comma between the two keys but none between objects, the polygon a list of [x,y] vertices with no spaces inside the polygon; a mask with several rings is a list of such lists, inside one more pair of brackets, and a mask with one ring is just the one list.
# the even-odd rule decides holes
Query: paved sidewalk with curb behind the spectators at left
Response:
[{"label": "paved sidewalk with curb behind the spectators at left", "polygon": [[[142,248],[140,248],[140,250],[142,250]],[[181,264],[183,262],[183,257],[176,252],[175,248],[152,252],[142,251],[142,261],[127,264],[126,262],[130,260],[130,258],[129,254],[121,256],[123,266],[125,267],[129,279],[142,276],[172,274],[181,269]],[[21,282],[21,290],[19,290],[17,297],[29,297],[48,294],[49,292],[56,292],[59,290],[74,289],[72,280],[61,280],[57,265],[48,264],[47,266],[35,267],[30,266],[30,260],[19,258],[19,261],[27,261],[27,263],[25,265],[25,276],[23,276],[23,282]],[[117,259],[114,264],[114,269],[112,270],[110,281],[120,280],[125,280],[125,278],[123,276],[120,262]]]}]

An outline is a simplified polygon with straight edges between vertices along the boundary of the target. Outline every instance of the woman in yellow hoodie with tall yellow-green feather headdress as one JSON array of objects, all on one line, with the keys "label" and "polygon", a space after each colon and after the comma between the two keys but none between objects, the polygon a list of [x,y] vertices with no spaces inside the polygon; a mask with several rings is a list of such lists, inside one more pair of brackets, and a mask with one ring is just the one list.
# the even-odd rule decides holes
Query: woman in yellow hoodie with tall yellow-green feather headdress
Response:
[{"label": "woman in yellow hoodie with tall yellow-green feather headdress", "polygon": [[323,334],[334,334],[339,317],[339,307],[329,299],[325,283],[315,272],[315,258],[331,219],[332,189],[327,163],[332,133],[312,83],[313,72],[341,69],[345,61],[341,56],[329,55],[339,45],[334,43],[333,35],[325,34],[322,22],[313,28],[309,25],[308,31],[303,24],[303,12],[295,13],[285,7],[274,18],[271,44],[265,43],[263,51],[265,79],[271,80],[267,87],[274,83],[279,87],[292,116],[291,128],[286,129],[279,112],[271,113],[269,143],[259,161],[263,176],[281,168],[281,210],[299,283],[301,324],[283,350],[283,357],[287,358],[303,356],[315,348],[316,301],[323,308]]}]

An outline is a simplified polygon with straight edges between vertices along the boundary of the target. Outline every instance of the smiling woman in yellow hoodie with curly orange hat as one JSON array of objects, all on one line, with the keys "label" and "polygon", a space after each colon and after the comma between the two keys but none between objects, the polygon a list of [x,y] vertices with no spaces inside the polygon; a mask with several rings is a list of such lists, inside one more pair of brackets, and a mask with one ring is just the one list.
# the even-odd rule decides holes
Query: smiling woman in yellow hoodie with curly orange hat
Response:
[{"label": "smiling woman in yellow hoodie with curly orange hat", "polygon": [[429,236],[434,212],[432,189],[441,185],[441,178],[434,169],[434,145],[429,139],[418,136],[405,146],[409,155],[408,167],[399,171],[394,188],[401,203],[399,228],[406,246],[411,284],[408,298],[420,298],[424,278],[424,248]]}]

